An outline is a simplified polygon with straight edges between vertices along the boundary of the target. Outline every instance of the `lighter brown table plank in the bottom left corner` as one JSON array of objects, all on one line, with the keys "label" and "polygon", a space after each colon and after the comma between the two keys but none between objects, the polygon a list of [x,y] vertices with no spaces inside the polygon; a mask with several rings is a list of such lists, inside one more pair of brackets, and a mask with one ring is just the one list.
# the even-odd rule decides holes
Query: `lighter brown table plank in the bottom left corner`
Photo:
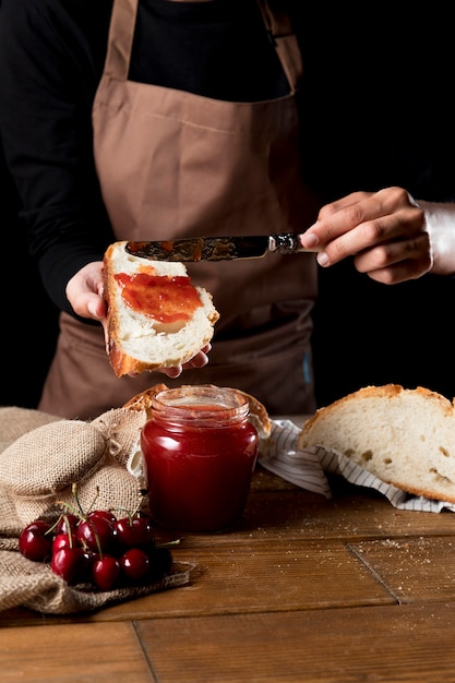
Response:
[{"label": "lighter brown table plank in the bottom left corner", "polygon": [[131,623],[29,626],[0,634],[2,683],[154,680]]}]

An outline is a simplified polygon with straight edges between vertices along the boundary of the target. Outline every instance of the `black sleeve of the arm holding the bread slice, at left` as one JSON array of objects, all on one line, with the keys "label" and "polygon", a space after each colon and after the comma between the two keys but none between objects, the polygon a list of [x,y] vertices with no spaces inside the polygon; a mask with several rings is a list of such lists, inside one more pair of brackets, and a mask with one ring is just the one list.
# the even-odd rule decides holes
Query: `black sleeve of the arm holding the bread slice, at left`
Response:
[{"label": "black sleeve of the arm holding the bread slice, at left", "polygon": [[[103,11],[92,12],[98,4]],[[91,124],[109,7],[110,0],[2,0],[0,8],[0,134],[8,169],[32,259],[50,298],[70,313],[68,280],[100,260],[113,240]]]}]

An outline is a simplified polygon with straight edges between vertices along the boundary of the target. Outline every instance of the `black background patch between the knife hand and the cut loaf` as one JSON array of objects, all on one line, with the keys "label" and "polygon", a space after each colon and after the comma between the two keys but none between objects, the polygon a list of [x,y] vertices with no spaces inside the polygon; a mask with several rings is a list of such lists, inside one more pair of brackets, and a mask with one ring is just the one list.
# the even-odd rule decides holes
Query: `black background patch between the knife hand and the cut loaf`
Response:
[{"label": "black background patch between the knife hand and the cut loaf", "polygon": [[368,384],[455,396],[455,280],[380,285],[349,261],[320,268],[313,354],[319,406]]}]

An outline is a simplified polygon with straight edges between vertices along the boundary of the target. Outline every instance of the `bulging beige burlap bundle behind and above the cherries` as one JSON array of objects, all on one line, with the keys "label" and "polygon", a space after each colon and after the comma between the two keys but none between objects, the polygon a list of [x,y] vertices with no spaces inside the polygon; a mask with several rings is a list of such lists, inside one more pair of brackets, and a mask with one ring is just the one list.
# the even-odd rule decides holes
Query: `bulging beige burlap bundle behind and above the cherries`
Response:
[{"label": "bulging beige burlap bundle behind and above the cherries", "polygon": [[[27,412],[27,427],[36,424],[39,418],[31,419]],[[14,417],[17,433],[16,412]],[[11,433],[11,409],[8,416],[0,409],[0,433],[4,418]],[[134,511],[141,504],[141,481],[128,471],[127,460],[144,412],[119,408],[92,422],[41,419],[40,426],[22,433],[0,455],[0,532],[19,532],[55,510],[59,501],[74,505],[73,483],[85,512],[94,502],[98,510]]]}]

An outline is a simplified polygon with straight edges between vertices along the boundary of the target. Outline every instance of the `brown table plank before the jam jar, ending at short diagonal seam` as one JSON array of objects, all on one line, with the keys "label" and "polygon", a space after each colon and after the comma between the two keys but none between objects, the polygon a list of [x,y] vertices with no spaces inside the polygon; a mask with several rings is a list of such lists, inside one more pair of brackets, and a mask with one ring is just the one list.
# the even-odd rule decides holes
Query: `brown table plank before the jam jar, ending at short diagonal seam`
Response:
[{"label": "brown table plank before the jam jar, ending at short diagonal seam", "polygon": [[221,544],[184,556],[197,565],[190,586],[111,607],[92,619],[169,619],[396,601],[338,541]]}]

